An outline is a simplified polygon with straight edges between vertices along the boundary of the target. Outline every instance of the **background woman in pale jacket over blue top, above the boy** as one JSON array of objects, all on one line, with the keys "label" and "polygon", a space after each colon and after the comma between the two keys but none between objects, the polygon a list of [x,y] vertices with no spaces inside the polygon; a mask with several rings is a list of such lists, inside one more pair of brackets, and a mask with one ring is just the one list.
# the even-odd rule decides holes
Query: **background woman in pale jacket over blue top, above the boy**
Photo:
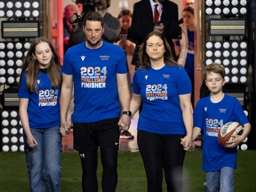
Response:
[{"label": "background woman in pale jacket over blue top, above the boy", "polygon": [[194,55],[195,55],[195,44],[194,44],[194,8],[186,7],[183,10],[183,24],[182,38],[180,41],[176,41],[175,54],[179,56],[178,63],[181,64],[192,83],[192,104],[194,107]]}]

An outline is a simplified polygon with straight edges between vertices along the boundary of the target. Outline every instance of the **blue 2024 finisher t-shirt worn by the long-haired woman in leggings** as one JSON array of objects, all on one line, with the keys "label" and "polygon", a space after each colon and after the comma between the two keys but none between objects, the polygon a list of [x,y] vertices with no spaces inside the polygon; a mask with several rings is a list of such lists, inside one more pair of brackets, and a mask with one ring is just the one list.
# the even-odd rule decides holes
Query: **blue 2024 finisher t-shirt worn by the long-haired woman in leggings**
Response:
[{"label": "blue 2024 finisher t-shirt worn by the long-haired woman in leggings", "polygon": [[143,99],[138,130],[158,134],[186,134],[179,95],[192,91],[191,82],[183,67],[136,70],[134,93]]}]

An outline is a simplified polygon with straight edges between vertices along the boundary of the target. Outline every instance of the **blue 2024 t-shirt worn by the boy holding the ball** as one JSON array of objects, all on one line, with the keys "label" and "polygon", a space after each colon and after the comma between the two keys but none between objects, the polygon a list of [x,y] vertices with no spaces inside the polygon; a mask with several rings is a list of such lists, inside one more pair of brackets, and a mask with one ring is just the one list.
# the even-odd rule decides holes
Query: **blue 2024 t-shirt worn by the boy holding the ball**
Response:
[{"label": "blue 2024 t-shirt worn by the boy holding the ball", "polygon": [[210,96],[200,99],[194,111],[194,127],[203,129],[203,170],[218,171],[223,167],[236,168],[237,148],[223,147],[218,142],[218,130],[227,122],[248,123],[237,98],[225,94],[219,103]]}]

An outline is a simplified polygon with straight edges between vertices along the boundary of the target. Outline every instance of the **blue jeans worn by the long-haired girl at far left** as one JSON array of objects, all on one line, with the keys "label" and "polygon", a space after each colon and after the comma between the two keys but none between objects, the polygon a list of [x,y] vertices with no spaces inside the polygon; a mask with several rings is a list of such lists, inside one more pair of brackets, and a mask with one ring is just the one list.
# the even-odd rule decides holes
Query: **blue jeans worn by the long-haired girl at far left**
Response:
[{"label": "blue jeans worn by the long-haired girl at far left", "polygon": [[62,151],[60,127],[30,130],[37,141],[37,146],[28,147],[24,132],[23,138],[31,192],[44,192],[44,181],[48,192],[60,192]]}]

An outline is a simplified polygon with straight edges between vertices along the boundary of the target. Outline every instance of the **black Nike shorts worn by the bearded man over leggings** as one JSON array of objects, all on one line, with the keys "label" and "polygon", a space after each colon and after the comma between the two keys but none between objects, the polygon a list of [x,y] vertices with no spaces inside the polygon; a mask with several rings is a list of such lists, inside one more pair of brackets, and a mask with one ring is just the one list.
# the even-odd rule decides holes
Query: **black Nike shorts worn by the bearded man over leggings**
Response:
[{"label": "black Nike shorts worn by the bearded man over leggings", "polygon": [[90,123],[73,122],[73,148],[78,152],[91,152],[100,148],[119,148],[118,118]]}]

